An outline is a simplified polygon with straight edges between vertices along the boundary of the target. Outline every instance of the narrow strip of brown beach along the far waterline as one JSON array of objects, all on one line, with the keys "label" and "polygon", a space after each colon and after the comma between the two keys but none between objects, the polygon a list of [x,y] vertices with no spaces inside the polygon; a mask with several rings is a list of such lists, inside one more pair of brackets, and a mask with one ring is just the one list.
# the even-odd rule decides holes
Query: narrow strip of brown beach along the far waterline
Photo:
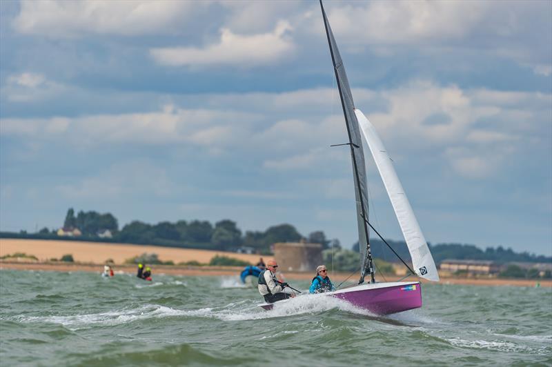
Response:
[{"label": "narrow strip of brown beach along the far waterline", "polygon": [[[134,274],[136,266],[134,265],[114,265],[116,275],[117,272]],[[103,270],[103,265],[100,264],[80,264],[80,263],[63,263],[63,262],[21,262],[21,261],[0,261],[0,270],[42,270],[42,271],[57,271],[57,272],[97,272]],[[243,270],[240,266],[169,266],[169,265],[152,265],[153,277],[156,274],[181,275],[189,277],[237,277],[239,272]],[[335,272],[331,275],[334,282],[341,282],[346,279],[350,273]],[[312,272],[284,272],[286,279],[301,279],[311,280]],[[385,275],[387,281],[397,281],[400,277],[397,275]],[[351,279],[353,279],[351,277]],[[380,277],[380,280],[381,277]],[[424,279],[415,279],[409,277],[405,281],[420,280],[424,284],[433,283]],[[518,286],[533,288],[536,284],[540,284],[543,288],[552,288],[551,279],[502,279],[502,278],[441,278],[439,284],[460,284],[469,286]]]}]

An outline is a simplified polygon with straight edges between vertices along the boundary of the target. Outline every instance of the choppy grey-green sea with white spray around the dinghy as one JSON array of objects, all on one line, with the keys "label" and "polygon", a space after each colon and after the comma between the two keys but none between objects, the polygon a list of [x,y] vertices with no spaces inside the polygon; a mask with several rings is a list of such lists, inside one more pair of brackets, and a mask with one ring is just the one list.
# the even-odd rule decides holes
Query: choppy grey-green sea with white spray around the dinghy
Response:
[{"label": "choppy grey-green sea with white spray around the dinghy", "polygon": [[374,317],[329,297],[266,312],[237,276],[1,270],[0,281],[3,366],[552,364],[550,288],[424,284],[423,308]]}]

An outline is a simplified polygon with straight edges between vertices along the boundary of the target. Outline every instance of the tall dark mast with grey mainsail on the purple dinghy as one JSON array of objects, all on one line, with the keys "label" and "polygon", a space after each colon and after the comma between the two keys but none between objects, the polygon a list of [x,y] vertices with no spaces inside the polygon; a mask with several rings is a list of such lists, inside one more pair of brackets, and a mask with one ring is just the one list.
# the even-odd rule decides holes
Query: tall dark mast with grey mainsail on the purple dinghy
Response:
[{"label": "tall dark mast with grey mainsail on the purple dinghy", "polygon": [[366,194],[366,166],[364,164],[364,152],[362,150],[362,137],[360,136],[358,121],[355,116],[355,103],[353,102],[353,95],[351,94],[351,88],[349,88],[343,61],[341,59],[341,55],[339,54],[339,50],[337,49],[337,43],[335,43],[330,24],[328,23],[328,18],[326,17],[322,0],[319,1],[320,8],[322,9],[322,17],[324,18],[324,27],[326,28],[328,46],[330,47],[335,79],[337,80],[339,98],[341,99],[345,124],[347,127],[347,135],[349,138],[348,146],[351,148],[351,160],[353,161],[353,175],[355,182],[355,197],[357,200],[359,250],[362,249],[363,245],[366,248],[366,252],[362,259],[359,284],[364,283],[366,272],[370,273],[371,283],[375,283],[374,266],[370,249],[370,237],[368,226],[366,226],[366,221],[368,220],[368,195]]}]

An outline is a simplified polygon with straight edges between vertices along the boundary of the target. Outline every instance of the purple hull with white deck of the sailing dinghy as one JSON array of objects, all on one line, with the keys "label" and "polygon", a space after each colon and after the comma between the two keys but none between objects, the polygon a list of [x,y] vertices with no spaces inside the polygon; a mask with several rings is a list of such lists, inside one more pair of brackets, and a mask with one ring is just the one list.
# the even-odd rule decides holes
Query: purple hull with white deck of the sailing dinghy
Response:
[{"label": "purple hull with white deck of the sailing dinghy", "polygon": [[[327,292],[324,295],[343,299],[377,315],[400,313],[422,307],[422,288],[419,281],[362,284],[335,292]],[[271,310],[274,304],[260,306],[265,310]]]}]

